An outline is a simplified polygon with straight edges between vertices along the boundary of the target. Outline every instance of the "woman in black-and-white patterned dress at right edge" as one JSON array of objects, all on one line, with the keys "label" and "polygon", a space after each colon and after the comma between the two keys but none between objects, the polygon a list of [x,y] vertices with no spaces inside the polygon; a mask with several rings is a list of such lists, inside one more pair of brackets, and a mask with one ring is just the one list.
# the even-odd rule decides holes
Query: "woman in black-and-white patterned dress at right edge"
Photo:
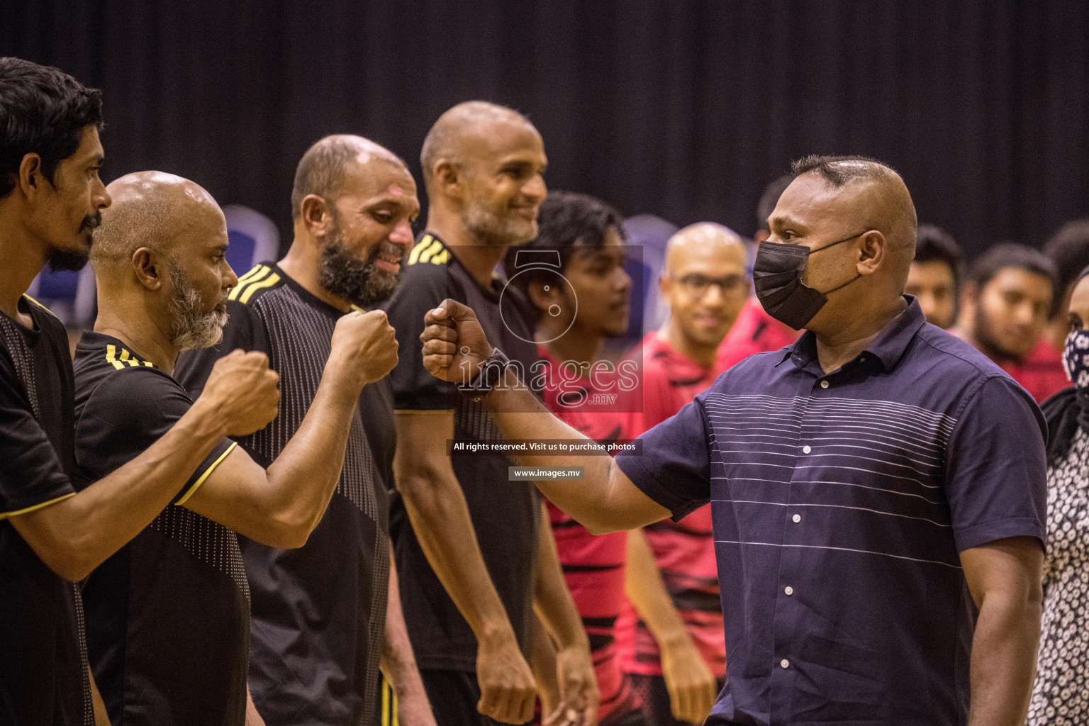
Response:
[{"label": "woman in black-and-white patterned dress at right edge", "polygon": [[1048,544],[1029,726],[1089,724],[1089,268],[1070,296],[1063,367],[1074,387],[1043,403]]}]

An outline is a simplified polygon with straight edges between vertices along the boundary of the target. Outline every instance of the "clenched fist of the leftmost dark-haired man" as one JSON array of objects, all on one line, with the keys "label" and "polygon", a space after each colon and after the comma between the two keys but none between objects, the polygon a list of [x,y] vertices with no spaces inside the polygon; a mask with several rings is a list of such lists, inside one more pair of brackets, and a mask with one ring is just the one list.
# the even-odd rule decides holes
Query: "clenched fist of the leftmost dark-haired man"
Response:
[{"label": "clenched fist of the leftmost dark-haired man", "polygon": [[201,399],[220,413],[229,436],[260,431],[280,413],[280,376],[264,353],[232,350],[216,361]]}]

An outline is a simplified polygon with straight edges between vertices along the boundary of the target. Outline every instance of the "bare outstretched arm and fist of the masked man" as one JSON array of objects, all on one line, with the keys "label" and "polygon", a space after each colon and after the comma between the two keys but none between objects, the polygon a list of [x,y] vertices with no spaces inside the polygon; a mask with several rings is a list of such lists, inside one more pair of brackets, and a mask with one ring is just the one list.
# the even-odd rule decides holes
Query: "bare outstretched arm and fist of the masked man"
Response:
[{"label": "bare outstretched arm and fist of the masked man", "polygon": [[[475,376],[479,365],[491,356],[480,323],[473,310],[455,300],[425,317],[424,366],[444,381],[461,382],[464,374]],[[507,440],[565,439],[592,443],[582,433],[555,418],[525,387],[510,368],[502,381],[484,396],[488,413]],[[563,481],[538,481],[537,488],[554,505],[574,517],[595,534],[649,525],[670,512],[644,494],[610,456],[558,456],[524,454],[525,466],[580,466],[586,480],[577,484]]]}]

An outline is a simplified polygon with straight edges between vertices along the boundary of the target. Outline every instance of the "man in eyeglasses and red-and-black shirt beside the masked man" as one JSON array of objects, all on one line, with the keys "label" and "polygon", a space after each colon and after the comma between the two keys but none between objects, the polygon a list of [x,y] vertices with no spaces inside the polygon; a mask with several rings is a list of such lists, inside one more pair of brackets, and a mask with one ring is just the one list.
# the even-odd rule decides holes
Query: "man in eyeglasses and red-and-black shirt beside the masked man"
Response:
[{"label": "man in eyeglasses and red-and-black shirt beside the masked man", "polygon": [[[744,243],[721,224],[681,230],[665,248],[659,288],[670,315],[643,340],[643,413],[632,435],[676,414],[724,370],[719,346],[750,290]],[[711,505],[633,530],[627,557],[621,667],[652,723],[702,723],[726,676]]]}]

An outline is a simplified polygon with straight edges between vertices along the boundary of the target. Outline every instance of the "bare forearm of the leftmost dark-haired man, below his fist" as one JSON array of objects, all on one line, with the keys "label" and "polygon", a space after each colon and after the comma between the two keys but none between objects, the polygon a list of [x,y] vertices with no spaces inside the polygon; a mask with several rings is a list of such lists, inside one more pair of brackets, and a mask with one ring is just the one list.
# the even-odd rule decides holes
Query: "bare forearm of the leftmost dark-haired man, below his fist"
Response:
[{"label": "bare forearm of the leftmost dark-haired man, below his fist", "polygon": [[54,571],[83,579],[178,496],[224,435],[215,404],[198,399],[139,456],[75,496],[13,524],[28,541],[44,543],[46,551],[38,554]]}]

